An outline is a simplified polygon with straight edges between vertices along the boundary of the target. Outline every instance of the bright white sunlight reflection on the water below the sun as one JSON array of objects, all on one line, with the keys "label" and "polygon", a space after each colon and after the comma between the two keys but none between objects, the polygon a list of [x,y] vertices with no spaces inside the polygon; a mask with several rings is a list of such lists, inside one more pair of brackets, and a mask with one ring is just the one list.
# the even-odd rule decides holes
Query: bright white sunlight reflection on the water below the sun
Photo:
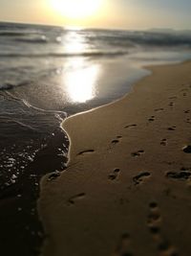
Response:
[{"label": "bright white sunlight reflection on the water below the sun", "polygon": [[[87,52],[87,44],[82,35],[71,32],[63,41],[67,53]],[[64,63],[63,81],[68,99],[72,103],[85,103],[96,97],[96,84],[100,75],[100,65],[87,58],[68,58]]]}]

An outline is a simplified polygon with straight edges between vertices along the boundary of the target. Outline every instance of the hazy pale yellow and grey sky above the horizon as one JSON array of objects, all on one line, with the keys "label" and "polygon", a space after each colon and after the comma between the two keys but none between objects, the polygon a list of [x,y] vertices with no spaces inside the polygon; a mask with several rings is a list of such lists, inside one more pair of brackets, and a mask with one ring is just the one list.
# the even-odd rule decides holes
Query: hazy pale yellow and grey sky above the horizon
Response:
[{"label": "hazy pale yellow and grey sky above the horizon", "polygon": [[0,0],[0,21],[61,26],[191,29],[191,0]]}]

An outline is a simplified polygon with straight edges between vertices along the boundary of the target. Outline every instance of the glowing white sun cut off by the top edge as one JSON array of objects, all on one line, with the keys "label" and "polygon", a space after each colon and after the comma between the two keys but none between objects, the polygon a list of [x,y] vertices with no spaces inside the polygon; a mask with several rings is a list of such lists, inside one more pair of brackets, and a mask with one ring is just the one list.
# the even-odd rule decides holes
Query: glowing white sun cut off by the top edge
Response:
[{"label": "glowing white sun cut off by the top edge", "polygon": [[69,19],[84,19],[96,15],[102,0],[51,0],[55,12]]}]

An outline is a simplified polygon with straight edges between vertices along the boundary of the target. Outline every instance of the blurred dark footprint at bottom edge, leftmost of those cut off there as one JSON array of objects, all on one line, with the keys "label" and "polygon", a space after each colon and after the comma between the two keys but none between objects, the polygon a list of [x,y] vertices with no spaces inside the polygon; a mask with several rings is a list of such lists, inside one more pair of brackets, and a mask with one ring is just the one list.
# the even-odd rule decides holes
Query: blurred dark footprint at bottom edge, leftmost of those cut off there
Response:
[{"label": "blurred dark footprint at bottom edge, leftmost of those cut off there", "polygon": [[131,238],[128,233],[123,233],[117,244],[116,253],[117,256],[133,256],[133,253],[129,250]]}]

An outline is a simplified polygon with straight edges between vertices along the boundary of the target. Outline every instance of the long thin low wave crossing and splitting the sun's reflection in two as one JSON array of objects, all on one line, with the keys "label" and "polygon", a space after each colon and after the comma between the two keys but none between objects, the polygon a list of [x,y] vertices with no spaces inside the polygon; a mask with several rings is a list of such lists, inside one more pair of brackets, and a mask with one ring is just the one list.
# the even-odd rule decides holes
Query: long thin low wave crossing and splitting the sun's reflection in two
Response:
[{"label": "long thin low wave crossing and splitting the sun's reflection in two", "polygon": [[127,51],[116,52],[86,52],[86,53],[48,53],[48,54],[0,54],[0,58],[72,58],[72,57],[117,57],[128,55]]}]

